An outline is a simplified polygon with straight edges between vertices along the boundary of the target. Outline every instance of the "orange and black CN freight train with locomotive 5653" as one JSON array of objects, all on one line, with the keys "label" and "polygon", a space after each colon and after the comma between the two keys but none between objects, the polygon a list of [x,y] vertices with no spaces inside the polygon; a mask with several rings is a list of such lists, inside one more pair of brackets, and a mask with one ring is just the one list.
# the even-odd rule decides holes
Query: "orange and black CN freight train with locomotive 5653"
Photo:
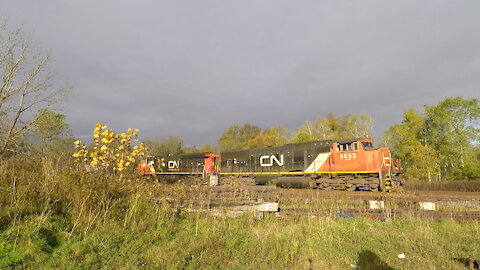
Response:
[{"label": "orange and black CN freight train with locomotive 5653", "polygon": [[160,177],[241,177],[258,184],[306,182],[323,190],[389,191],[402,186],[400,160],[392,159],[387,148],[374,148],[371,138],[149,157],[139,170]]}]

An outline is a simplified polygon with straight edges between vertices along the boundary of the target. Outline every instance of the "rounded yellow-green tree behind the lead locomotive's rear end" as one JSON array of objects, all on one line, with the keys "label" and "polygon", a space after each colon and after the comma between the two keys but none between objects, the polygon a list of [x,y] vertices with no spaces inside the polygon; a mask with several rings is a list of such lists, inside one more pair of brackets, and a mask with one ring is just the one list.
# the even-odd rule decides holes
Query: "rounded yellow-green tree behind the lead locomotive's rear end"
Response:
[{"label": "rounded yellow-green tree behind the lead locomotive's rear end", "polygon": [[218,145],[221,150],[246,149],[248,142],[260,135],[261,130],[260,127],[251,124],[244,124],[242,127],[234,124],[218,139]]}]

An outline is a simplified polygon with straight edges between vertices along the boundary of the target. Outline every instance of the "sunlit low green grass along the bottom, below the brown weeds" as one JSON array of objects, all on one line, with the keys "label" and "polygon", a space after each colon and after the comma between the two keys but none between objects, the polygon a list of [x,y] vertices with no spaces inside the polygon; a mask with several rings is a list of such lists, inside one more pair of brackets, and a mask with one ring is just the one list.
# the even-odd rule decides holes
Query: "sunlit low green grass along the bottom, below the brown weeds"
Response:
[{"label": "sunlit low green grass along the bottom, below the brown weeds", "polygon": [[[404,219],[296,218],[257,220],[184,215],[108,222],[86,235],[50,217],[0,234],[0,266],[64,269],[346,269],[350,264],[395,269],[463,269],[454,258],[477,256],[478,222]],[[406,254],[398,259],[397,254]],[[370,259],[365,259],[365,255]],[[369,269],[369,268],[366,268]],[[378,269],[378,268],[373,268]],[[388,268],[380,268],[388,269]]]}]

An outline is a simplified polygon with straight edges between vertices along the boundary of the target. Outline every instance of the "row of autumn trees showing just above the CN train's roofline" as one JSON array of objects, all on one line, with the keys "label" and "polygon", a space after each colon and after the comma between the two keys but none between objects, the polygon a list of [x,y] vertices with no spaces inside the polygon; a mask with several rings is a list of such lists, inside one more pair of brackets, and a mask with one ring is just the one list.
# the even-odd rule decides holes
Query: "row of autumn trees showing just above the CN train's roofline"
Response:
[{"label": "row of autumn trees showing just above the CN train's roofline", "polygon": [[217,141],[217,145],[207,144],[199,148],[185,147],[182,138],[177,136],[147,140],[145,144],[152,154],[160,156],[194,152],[244,150],[315,140],[371,137],[373,122],[373,117],[365,113],[340,116],[329,113],[326,117],[318,117],[315,121],[306,121],[296,131],[280,125],[262,129],[249,123],[243,125],[233,124],[222,133]]}]

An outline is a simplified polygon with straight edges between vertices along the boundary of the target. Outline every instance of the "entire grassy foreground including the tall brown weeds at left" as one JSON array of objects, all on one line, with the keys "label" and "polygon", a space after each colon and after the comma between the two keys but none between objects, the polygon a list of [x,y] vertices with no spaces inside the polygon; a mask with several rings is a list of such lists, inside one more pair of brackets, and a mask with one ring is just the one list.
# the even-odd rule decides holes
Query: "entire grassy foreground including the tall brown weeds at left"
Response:
[{"label": "entire grassy foreground including the tall brown weeds at left", "polygon": [[214,218],[154,204],[153,188],[185,196],[62,157],[3,162],[0,268],[464,269],[455,258],[480,254],[477,221]]}]

